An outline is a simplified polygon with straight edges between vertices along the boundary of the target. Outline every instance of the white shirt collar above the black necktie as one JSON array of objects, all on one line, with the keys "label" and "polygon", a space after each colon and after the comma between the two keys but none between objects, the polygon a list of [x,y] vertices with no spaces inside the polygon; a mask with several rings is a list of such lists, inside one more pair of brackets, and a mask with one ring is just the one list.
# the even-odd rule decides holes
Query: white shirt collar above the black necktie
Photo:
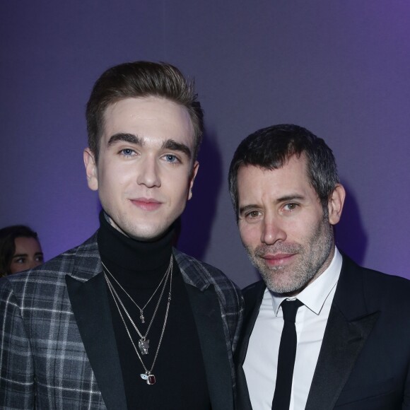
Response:
[{"label": "white shirt collar above the black necktie", "polygon": [[[330,262],[327,269],[317,278],[315,281],[312,281],[310,285],[306,286],[295,298],[298,298],[300,302],[303,303],[306,307],[308,307],[312,312],[315,312],[316,315],[320,314],[320,310],[324,305],[329,294],[332,292],[334,286],[336,286],[337,281],[339,280],[339,275],[341,271],[341,262],[342,257],[337,250],[334,248],[334,256],[332,262]],[[266,293],[270,293],[272,298],[272,306],[274,308],[275,316],[278,315],[279,306],[285,299],[295,299],[295,298],[287,298],[280,296],[278,293],[273,293],[269,291],[268,288],[265,290]]]}]

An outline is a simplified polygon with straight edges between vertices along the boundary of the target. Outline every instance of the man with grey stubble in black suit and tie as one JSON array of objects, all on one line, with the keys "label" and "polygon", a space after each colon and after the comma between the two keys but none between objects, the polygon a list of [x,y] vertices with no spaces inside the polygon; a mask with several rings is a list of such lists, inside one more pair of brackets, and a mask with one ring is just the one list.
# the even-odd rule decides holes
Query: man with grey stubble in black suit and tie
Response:
[{"label": "man with grey stubble in black suit and tie", "polygon": [[229,184],[263,279],[244,291],[238,409],[410,409],[410,281],[335,247],[345,191],[330,148],[295,125],[260,129]]}]

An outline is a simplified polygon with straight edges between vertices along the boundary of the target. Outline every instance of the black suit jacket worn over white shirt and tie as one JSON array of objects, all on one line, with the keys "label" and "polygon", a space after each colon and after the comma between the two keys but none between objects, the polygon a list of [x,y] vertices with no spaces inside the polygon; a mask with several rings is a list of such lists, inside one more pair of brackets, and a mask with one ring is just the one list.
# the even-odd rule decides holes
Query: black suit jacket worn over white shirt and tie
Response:
[{"label": "black suit jacket worn over white shirt and tie", "polygon": [[[264,289],[259,281],[244,290],[238,410],[252,409],[242,364]],[[344,255],[305,409],[410,409],[410,281]]]}]

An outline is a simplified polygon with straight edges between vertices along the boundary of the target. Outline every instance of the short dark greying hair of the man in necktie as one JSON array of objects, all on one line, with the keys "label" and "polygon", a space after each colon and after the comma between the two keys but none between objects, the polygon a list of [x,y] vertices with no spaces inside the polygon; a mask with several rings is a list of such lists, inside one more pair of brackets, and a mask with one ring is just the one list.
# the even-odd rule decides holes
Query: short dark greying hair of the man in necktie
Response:
[{"label": "short dark greying hair of the man in necktie", "polygon": [[276,170],[286,165],[291,156],[305,155],[307,175],[327,216],[327,202],[339,183],[332,150],[323,139],[303,127],[278,124],[259,129],[247,136],[238,146],[230,163],[228,184],[230,198],[238,219],[238,170],[253,165]]}]

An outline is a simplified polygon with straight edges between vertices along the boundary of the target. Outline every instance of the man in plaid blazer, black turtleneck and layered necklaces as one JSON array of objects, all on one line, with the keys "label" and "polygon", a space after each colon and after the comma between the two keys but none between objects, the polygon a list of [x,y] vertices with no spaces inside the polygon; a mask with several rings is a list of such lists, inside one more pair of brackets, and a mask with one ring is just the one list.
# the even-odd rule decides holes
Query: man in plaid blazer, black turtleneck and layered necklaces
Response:
[{"label": "man in plaid blazer, black turtleneck and layered necklaces", "polygon": [[168,64],[105,71],[84,163],[100,229],[1,282],[1,409],[233,409],[237,288],[172,248],[203,114]]}]

